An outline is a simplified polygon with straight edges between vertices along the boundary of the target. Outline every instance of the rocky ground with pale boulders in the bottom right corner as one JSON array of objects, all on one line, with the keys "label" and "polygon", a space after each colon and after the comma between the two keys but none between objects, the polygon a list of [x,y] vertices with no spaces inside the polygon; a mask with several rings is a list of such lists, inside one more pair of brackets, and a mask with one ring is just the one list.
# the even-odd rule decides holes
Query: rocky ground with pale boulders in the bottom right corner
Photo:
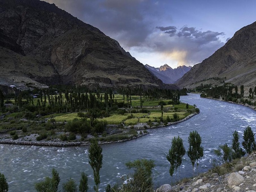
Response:
[{"label": "rocky ground with pale boulders in the bottom right corner", "polygon": [[256,152],[241,158],[235,169],[236,172],[223,175],[209,171],[173,187],[165,184],[156,192],[256,192]]}]

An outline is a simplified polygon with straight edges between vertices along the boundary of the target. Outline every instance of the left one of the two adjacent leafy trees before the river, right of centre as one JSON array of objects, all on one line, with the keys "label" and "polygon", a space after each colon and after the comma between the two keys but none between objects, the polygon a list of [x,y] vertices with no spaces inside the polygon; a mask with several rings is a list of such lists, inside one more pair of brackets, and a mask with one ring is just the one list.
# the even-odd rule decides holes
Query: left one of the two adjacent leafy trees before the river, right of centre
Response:
[{"label": "left one of the two adjacent leafy trees before the river, right of centre", "polygon": [[166,156],[167,160],[171,163],[171,166],[175,168],[175,183],[177,184],[177,169],[179,168],[179,180],[180,180],[180,165],[182,163],[182,157],[185,155],[186,150],[183,145],[183,140],[178,136],[172,139],[172,147],[169,149],[169,154]]}]

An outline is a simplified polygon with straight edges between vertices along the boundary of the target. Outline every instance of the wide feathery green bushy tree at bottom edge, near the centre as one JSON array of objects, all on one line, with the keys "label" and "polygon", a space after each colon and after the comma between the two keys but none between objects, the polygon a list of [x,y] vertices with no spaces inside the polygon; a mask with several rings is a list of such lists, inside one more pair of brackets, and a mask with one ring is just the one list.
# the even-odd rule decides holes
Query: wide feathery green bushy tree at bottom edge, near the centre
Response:
[{"label": "wide feathery green bushy tree at bottom edge, near the centre", "polygon": [[153,171],[156,166],[151,159],[137,159],[126,164],[127,169],[133,169],[132,180],[124,186],[126,190],[132,192],[153,191]]}]

